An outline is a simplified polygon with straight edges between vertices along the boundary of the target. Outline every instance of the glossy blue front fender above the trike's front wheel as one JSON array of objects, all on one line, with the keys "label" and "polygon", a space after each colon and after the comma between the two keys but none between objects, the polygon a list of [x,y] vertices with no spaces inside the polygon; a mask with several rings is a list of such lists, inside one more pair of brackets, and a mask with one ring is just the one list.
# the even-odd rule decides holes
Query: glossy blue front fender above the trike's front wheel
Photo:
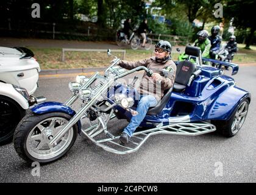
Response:
[{"label": "glossy blue front fender above the trike's front wheel", "polygon": [[[76,112],[72,108],[60,102],[43,102],[41,104],[34,105],[33,107],[30,108],[30,110],[36,113],[37,115],[43,115],[45,113],[51,113],[51,112],[62,112],[70,116],[76,115]],[[81,128],[82,128],[82,124],[80,120],[77,121],[77,126],[80,134]]]}]

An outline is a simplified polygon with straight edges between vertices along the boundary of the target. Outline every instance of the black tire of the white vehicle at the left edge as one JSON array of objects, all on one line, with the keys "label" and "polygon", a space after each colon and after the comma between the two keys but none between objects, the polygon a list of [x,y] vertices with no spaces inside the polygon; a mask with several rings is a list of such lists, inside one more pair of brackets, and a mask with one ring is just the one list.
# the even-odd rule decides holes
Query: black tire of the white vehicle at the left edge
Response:
[{"label": "black tire of the white vehicle at the left edge", "polygon": [[13,133],[21,119],[26,115],[16,101],[0,95],[0,146],[13,140]]}]

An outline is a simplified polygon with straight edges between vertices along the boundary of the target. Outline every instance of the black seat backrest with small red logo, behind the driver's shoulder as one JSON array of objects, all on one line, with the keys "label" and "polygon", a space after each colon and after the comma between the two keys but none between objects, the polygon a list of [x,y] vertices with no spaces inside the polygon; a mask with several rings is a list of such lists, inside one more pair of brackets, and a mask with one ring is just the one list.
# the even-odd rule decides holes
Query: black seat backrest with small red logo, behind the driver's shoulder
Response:
[{"label": "black seat backrest with small red logo, behind the driver's shoulder", "polygon": [[190,61],[181,61],[177,65],[175,82],[187,85],[191,75],[196,71],[196,65]]}]

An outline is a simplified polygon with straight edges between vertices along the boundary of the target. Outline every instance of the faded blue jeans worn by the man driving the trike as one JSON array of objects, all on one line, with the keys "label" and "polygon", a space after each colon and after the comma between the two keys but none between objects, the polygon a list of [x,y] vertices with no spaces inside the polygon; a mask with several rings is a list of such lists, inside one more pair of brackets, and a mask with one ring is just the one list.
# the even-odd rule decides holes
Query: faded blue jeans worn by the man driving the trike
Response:
[{"label": "faded blue jeans worn by the man driving the trike", "polygon": [[130,123],[124,129],[124,133],[129,135],[129,137],[132,137],[133,132],[135,132],[137,127],[140,126],[141,121],[143,121],[143,119],[145,118],[149,107],[154,107],[155,105],[157,105],[157,99],[155,99],[154,96],[141,95],[140,102],[138,102],[137,106],[138,115],[132,116],[132,119],[130,119]]}]

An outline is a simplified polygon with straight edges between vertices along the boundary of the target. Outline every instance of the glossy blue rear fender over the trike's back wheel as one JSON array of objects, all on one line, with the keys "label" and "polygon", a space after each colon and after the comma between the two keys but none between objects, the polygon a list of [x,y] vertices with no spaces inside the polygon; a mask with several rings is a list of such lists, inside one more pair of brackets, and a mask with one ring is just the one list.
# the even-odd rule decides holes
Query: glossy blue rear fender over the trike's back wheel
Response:
[{"label": "glossy blue rear fender over the trike's back wheel", "polygon": [[246,98],[250,102],[251,94],[233,85],[221,93],[215,102],[213,102],[207,112],[206,118],[210,120],[228,120],[238,104]]}]

